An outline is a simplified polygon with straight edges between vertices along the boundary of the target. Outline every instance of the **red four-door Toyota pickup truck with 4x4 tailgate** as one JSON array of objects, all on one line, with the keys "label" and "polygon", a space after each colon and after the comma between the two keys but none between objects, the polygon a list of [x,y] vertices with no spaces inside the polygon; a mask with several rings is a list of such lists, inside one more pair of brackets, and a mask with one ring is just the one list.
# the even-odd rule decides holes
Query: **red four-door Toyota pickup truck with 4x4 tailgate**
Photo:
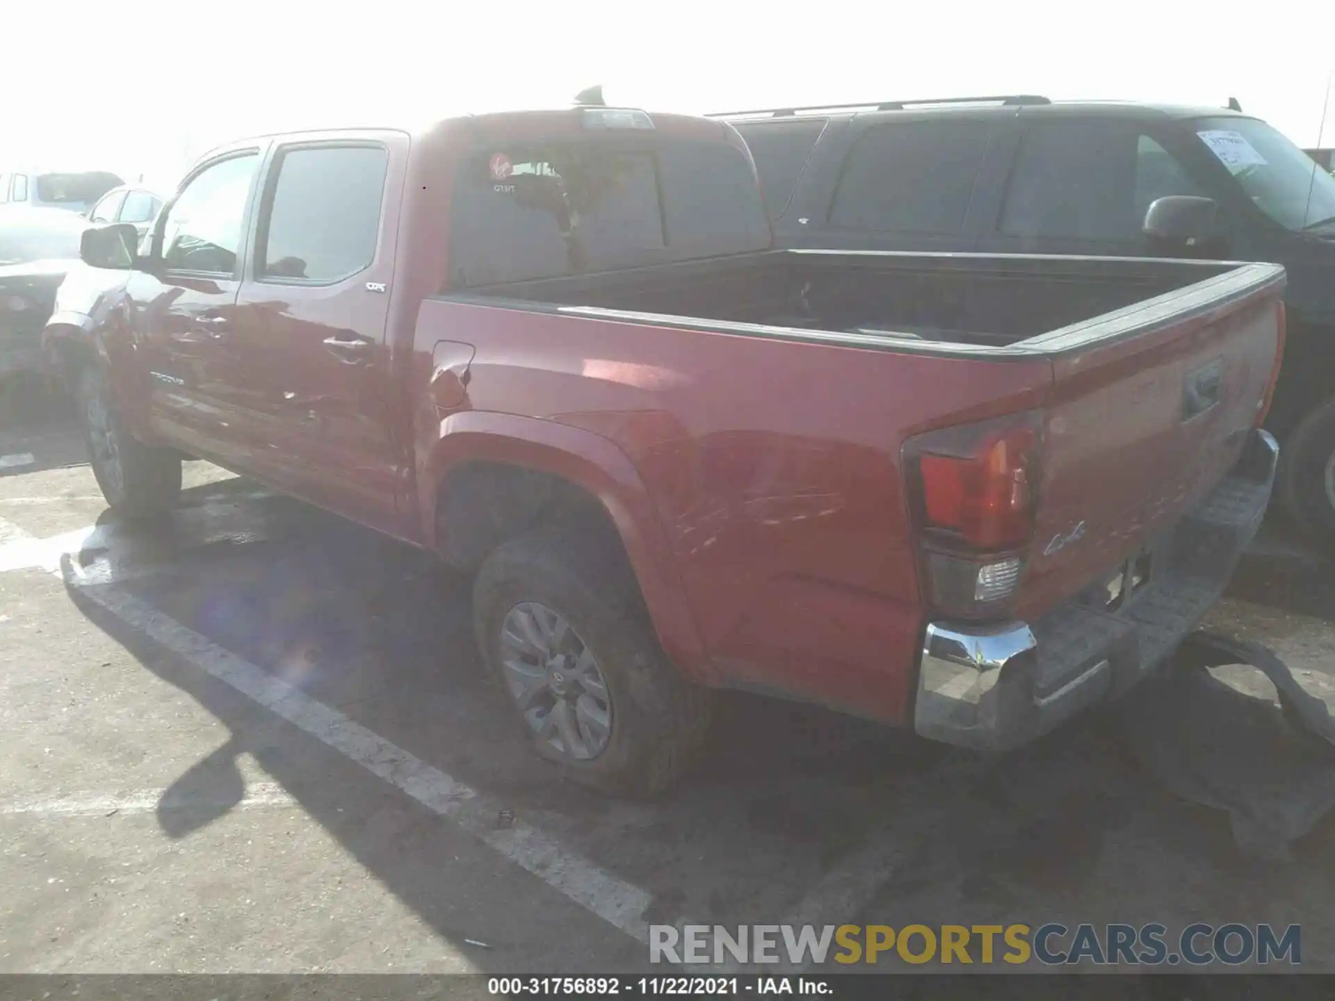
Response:
[{"label": "red four-door Toyota pickup truck with 4x4 tailgate", "polygon": [[1270,496],[1283,268],[770,239],[720,121],[264,136],[146,254],[91,228],[121,278],[45,351],[124,515],[186,454],[475,573],[523,731],[605,789],[666,787],[712,689],[1003,749],[1161,665]]}]

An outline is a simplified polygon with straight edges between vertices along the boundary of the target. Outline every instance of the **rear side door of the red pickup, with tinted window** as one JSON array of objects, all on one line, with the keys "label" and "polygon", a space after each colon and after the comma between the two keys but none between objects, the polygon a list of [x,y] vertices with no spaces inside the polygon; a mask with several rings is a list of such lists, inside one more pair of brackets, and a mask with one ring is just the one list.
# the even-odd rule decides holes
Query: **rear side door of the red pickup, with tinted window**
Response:
[{"label": "rear side door of the red pickup, with tinted window", "polygon": [[407,136],[276,145],[242,286],[230,387],[283,488],[399,531],[386,340]]}]

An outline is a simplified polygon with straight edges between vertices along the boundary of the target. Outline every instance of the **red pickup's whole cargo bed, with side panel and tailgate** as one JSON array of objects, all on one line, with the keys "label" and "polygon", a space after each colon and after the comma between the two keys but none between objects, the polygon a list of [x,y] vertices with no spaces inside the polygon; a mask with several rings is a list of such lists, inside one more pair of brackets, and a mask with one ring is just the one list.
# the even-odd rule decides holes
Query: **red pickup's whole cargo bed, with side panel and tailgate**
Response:
[{"label": "red pickup's whole cargo bed, with side panel and tailgate", "polygon": [[[906,693],[877,678],[913,677],[929,622],[1047,623],[1145,551],[1173,579],[1156,554],[1255,439],[1283,282],[1271,264],[776,251],[474,286],[418,315],[422,378],[454,387],[419,432],[505,414],[613,443],[661,519],[702,671],[892,719]],[[1020,423],[1036,509],[992,546],[1023,565],[1012,597],[945,607],[924,553],[957,543],[921,527],[910,443]]]}]

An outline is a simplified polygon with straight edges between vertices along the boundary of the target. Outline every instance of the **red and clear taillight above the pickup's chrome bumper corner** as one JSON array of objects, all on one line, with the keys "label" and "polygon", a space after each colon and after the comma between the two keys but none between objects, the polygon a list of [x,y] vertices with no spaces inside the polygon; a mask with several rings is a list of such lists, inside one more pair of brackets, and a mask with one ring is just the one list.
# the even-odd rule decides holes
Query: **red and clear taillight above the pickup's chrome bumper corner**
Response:
[{"label": "red and clear taillight above the pickup's chrome bumper corner", "polygon": [[910,438],[904,470],[936,610],[1001,614],[1024,571],[1037,509],[1043,414]]}]

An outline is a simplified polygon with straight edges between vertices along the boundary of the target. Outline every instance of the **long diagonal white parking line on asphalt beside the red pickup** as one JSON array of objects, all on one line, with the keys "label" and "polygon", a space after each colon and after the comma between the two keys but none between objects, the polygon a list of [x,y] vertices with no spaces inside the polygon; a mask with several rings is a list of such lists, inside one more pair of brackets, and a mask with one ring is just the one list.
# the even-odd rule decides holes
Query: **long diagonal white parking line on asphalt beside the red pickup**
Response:
[{"label": "long diagonal white parking line on asphalt beside the red pickup", "polygon": [[69,559],[63,563],[67,583],[77,586],[80,594],[116,618],[351,758],[427,809],[454,821],[614,928],[642,942],[649,941],[643,914],[653,898],[647,892],[569,852],[523,821],[498,826],[501,805],[486,794],[427,765],[140,599],[117,591],[113,585],[80,585],[69,573]]}]

